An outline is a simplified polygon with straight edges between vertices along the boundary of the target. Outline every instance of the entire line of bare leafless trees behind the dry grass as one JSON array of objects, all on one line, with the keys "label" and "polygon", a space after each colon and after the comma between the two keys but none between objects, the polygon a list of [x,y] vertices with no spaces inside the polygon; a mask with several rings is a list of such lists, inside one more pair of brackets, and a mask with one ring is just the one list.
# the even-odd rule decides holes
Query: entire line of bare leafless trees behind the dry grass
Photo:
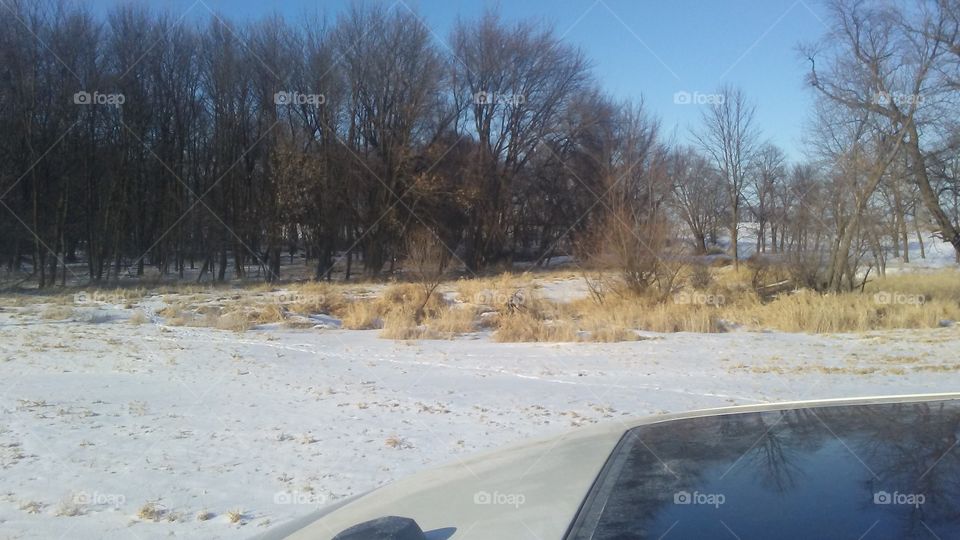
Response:
[{"label": "entire line of bare leafless trees behind the dry grass", "polygon": [[0,262],[41,287],[272,281],[298,254],[349,279],[426,232],[471,272],[574,255],[642,287],[750,222],[757,251],[853,287],[931,230],[960,250],[958,10],[911,6],[829,5],[789,163],[742,89],[674,140],[552,27],[492,12],[440,38],[402,6],[292,24],[3,0]]}]

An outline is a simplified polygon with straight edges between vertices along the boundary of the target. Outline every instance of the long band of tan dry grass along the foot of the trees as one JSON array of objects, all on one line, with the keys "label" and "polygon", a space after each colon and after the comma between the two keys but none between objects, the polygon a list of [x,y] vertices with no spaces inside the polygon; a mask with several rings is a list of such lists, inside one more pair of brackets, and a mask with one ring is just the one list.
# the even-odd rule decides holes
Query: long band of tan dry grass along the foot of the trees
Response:
[{"label": "long band of tan dry grass along the foot of the trees", "polygon": [[[960,321],[960,274],[953,269],[874,278],[863,293],[822,295],[800,290],[761,298],[754,290],[755,272],[747,264],[739,271],[732,266],[690,267],[680,274],[677,289],[666,299],[625,293],[615,278],[605,287],[602,303],[593,298],[566,303],[538,298],[537,283],[571,276],[569,272],[503,273],[461,279],[441,287],[457,293],[453,302],[437,292],[427,298],[416,283],[393,283],[376,294],[356,283],[244,289],[181,286],[175,289],[179,295],[159,315],[173,326],[243,332],[267,323],[290,326],[302,319],[300,315],[326,313],[339,318],[343,328],[379,329],[387,339],[450,339],[489,329],[495,340],[503,342],[629,341],[639,339],[638,331],[706,333],[731,327],[844,333],[936,328],[942,321]],[[771,279],[779,277],[770,274],[767,281]],[[88,298],[113,295],[115,300],[146,294],[143,289],[87,291]],[[878,301],[878,294],[892,295],[894,300]],[[908,301],[897,300],[897,295]],[[10,304],[17,305],[22,298],[15,296]],[[26,298],[40,303],[37,296]],[[40,311],[44,319],[77,317],[72,295],[42,298],[47,300]],[[147,317],[135,311],[130,322],[142,324]]]}]

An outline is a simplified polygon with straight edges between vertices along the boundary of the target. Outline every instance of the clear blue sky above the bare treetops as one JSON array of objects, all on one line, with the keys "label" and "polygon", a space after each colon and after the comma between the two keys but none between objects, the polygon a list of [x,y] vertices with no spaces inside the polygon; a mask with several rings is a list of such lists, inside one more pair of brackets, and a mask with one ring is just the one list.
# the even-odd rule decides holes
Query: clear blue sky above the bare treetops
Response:
[{"label": "clear blue sky above the bare treetops", "polygon": [[[278,12],[298,15],[321,10],[335,14],[350,0],[87,0],[101,10],[124,3],[190,10],[209,9],[234,19]],[[824,31],[818,0],[382,0],[395,9],[416,10],[446,40],[457,17],[477,17],[485,8],[507,19],[538,18],[581,47],[595,74],[617,98],[646,100],[668,135],[689,139],[699,118],[695,104],[677,105],[678,91],[710,93],[721,83],[741,86],[757,103],[764,136],[793,159],[802,153],[801,135],[812,96],[803,87],[807,66],[799,42]],[[191,7],[192,6],[192,7]]]}]

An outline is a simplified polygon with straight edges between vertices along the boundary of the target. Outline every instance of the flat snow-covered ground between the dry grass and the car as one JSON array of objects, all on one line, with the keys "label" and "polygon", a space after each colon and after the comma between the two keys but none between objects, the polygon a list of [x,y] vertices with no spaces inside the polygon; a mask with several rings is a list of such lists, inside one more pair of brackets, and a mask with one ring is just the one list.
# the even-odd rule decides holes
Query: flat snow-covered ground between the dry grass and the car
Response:
[{"label": "flat snow-covered ground between the dry grass and the car", "polygon": [[376,331],[138,326],[120,307],[52,321],[42,309],[0,309],[3,538],[245,538],[417,470],[575,426],[960,390],[957,326],[501,344],[483,334],[394,342]]}]

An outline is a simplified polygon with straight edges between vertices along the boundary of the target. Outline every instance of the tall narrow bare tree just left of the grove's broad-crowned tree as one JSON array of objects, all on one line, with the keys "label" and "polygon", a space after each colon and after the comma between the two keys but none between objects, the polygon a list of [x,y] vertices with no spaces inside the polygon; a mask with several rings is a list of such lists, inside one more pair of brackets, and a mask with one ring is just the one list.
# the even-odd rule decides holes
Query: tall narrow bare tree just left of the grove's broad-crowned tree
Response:
[{"label": "tall narrow bare tree just left of the grove's broad-crowned tree", "polygon": [[377,275],[409,211],[401,195],[412,178],[410,149],[422,141],[424,113],[439,91],[442,63],[430,30],[409,11],[355,6],[336,33],[350,92],[345,143],[355,160],[350,172],[365,191],[357,207],[364,265]]}]

